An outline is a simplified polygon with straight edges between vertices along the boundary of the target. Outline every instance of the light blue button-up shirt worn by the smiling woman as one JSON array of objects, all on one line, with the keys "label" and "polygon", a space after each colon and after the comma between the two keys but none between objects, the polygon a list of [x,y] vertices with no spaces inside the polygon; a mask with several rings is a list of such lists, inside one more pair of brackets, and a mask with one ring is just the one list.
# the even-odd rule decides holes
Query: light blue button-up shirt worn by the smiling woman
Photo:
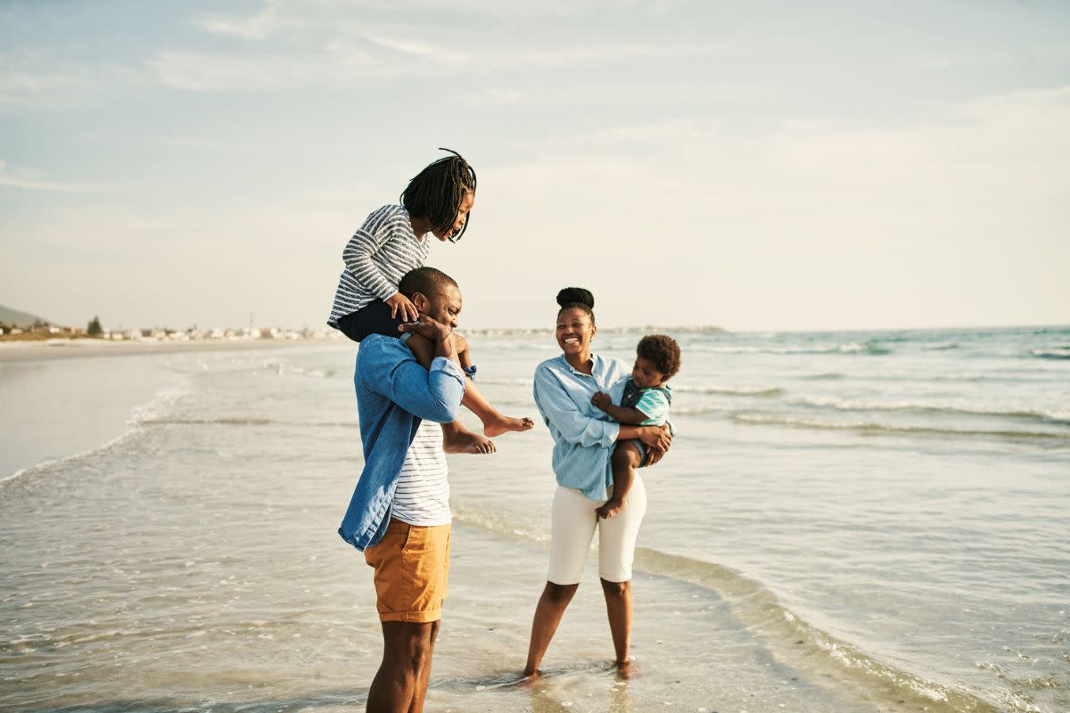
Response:
[{"label": "light blue button-up shirt worn by the smiling woman", "polygon": [[553,471],[557,483],[575,487],[592,500],[605,500],[613,483],[610,455],[621,432],[591,403],[596,391],[621,403],[631,368],[622,359],[592,355],[591,374],[572,369],[565,355],[535,369],[535,405],[553,436]]}]

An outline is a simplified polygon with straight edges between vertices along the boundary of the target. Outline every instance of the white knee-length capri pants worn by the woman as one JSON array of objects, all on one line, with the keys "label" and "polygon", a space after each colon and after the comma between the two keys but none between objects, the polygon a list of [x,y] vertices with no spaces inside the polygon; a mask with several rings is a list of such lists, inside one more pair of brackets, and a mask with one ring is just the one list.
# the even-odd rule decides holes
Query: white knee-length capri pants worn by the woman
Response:
[{"label": "white knee-length capri pants worn by the woman", "polygon": [[587,499],[578,490],[557,485],[550,510],[550,572],[546,577],[553,584],[580,583],[595,528],[598,528],[598,576],[606,582],[631,579],[636,539],[646,513],[643,479],[636,474],[628,506],[616,517],[599,520],[595,508],[602,502]]}]

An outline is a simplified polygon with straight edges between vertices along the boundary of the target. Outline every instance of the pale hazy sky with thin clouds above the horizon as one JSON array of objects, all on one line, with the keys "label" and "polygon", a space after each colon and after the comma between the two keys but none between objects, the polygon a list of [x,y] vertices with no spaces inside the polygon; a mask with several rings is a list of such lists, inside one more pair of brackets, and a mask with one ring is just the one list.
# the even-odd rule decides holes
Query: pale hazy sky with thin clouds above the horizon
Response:
[{"label": "pale hazy sky with thin clouds above the horizon", "polygon": [[1070,3],[0,2],[0,305],[324,326],[462,153],[462,326],[1070,323]]}]

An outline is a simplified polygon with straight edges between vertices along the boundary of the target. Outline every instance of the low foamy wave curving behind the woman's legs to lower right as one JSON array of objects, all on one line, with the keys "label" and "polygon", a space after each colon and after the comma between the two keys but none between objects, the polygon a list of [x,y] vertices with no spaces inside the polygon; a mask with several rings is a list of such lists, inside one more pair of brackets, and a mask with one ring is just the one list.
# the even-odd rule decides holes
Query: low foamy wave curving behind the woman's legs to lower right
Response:
[{"label": "low foamy wave curving behind the woman's legs to lower right", "polygon": [[[459,506],[454,520],[499,537],[549,542],[549,532],[518,527],[517,520],[505,513],[491,514]],[[814,671],[817,678],[830,677],[858,685],[874,698],[898,703],[903,710],[994,713],[975,696],[897,669],[813,626],[785,607],[770,589],[731,568],[649,547],[636,548],[635,568],[714,592],[748,631],[767,642],[779,661]]]}]

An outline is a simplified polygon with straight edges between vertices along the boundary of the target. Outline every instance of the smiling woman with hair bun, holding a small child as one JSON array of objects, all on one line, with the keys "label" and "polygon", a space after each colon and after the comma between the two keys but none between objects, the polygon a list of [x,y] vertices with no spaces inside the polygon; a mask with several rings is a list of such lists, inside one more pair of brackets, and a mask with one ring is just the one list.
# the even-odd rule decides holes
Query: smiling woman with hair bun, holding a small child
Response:
[{"label": "smiling woman with hair bun, holding a small child", "polygon": [[591,403],[598,391],[620,403],[630,368],[621,359],[591,351],[595,327],[594,296],[581,288],[557,293],[557,344],[561,356],[535,370],[535,403],[553,436],[553,471],[557,490],[551,512],[550,572],[535,608],[524,676],[538,673],[565,608],[583,574],[591,538],[598,529],[598,576],[609,615],[616,665],[628,666],[631,640],[631,562],[639,525],[646,511],[646,489],[636,474],[628,507],[616,517],[599,521],[595,509],[608,499],[613,482],[610,455],[617,440],[639,438],[651,450],[649,464],[661,460],[672,441],[657,425],[625,425],[603,420]]}]

